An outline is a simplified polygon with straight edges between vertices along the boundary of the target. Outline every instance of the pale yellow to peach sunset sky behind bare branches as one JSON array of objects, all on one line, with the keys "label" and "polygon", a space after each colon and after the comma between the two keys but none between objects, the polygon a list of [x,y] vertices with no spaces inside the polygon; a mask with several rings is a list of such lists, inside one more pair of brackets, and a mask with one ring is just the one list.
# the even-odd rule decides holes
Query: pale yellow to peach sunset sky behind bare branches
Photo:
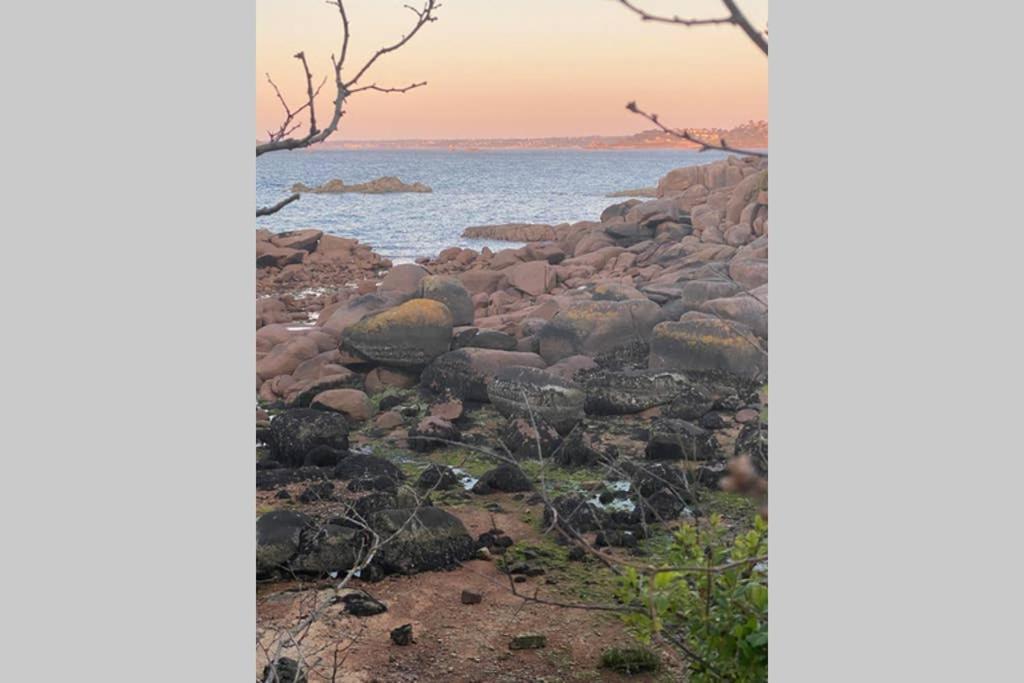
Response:
[{"label": "pale yellow to peach sunset sky behind bare branches", "polygon": [[[407,33],[422,0],[348,0],[346,71]],[[651,13],[717,16],[719,0],[635,0]],[[767,27],[767,0],[739,0]],[[731,127],[768,118],[768,60],[736,27],[642,22],[616,0],[442,0],[437,22],[382,56],[360,84],[402,86],[406,94],[352,95],[332,139],[412,139],[623,135],[651,128],[636,100],[668,125]],[[330,76],[341,22],[324,0],[257,0],[257,135],[276,129],[283,109],[305,97],[302,50],[314,84]],[[343,72],[344,74],[344,72]],[[317,98],[327,118],[332,82]]]}]

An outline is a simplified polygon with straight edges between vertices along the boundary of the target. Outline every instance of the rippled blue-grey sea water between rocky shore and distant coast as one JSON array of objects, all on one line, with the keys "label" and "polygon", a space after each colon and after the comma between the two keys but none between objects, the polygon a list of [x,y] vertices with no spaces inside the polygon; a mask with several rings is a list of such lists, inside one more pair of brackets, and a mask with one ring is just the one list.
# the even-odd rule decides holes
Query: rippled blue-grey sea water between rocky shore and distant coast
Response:
[{"label": "rippled blue-grey sea water between rocky shore and distant coast", "polygon": [[256,225],[356,238],[396,262],[452,246],[505,249],[514,245],[460,234],[469,225],[597,220],[605,207],[624,201],[609,199],[609,193],[653,186],[674,168],[723,157],[679,150],[281,152],[256,160],[257,206],[288,197],[295,182],[315,185],[332,178],[352,184],[395,175],[434,191],[303,195]]}]

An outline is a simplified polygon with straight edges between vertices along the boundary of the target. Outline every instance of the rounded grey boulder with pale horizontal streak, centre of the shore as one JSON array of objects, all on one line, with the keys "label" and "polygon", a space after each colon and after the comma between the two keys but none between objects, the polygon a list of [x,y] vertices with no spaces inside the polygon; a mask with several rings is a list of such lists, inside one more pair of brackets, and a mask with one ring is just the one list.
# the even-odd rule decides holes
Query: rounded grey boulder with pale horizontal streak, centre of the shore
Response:
[{"label": "rounded grey boulder with pale horizontal streak, centre of the shore", "polygon": [[487,397],[508,418],[541,418],[568,433],[584,416],[586,395],[571,382],[537,368],[505,368],[495,374]]}]

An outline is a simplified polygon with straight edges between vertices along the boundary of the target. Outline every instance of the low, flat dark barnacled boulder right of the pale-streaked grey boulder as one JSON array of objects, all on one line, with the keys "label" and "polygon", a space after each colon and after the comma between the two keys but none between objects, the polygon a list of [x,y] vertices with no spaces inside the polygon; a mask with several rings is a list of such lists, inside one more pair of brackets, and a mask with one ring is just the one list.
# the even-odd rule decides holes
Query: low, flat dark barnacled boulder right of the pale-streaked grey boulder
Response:
[{"label": "low, flat dark barnacled boulder right of the pale-streaked grey boulder", "polygon": [[590,415],[629,415],[671,403],[690,380],[666,370],[597,371],[583,375]]}]

